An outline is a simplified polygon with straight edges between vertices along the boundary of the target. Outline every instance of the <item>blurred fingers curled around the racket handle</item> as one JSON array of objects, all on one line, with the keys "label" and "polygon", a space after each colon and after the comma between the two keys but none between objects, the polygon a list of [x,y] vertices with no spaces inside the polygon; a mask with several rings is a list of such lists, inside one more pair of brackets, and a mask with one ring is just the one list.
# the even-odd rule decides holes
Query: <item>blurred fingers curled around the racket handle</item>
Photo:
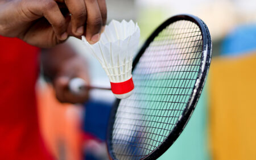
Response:
[{"label": "blurred fingers curled around the racket handle", "polygon": [[55,91],[56,91],[56,98],[61,103],[84,103],[88,100],[89,91],[82,90],[79,94],[73,94],[69,90],[69,82],[71,79],[68,77],[57,77],[54,81]]}]

